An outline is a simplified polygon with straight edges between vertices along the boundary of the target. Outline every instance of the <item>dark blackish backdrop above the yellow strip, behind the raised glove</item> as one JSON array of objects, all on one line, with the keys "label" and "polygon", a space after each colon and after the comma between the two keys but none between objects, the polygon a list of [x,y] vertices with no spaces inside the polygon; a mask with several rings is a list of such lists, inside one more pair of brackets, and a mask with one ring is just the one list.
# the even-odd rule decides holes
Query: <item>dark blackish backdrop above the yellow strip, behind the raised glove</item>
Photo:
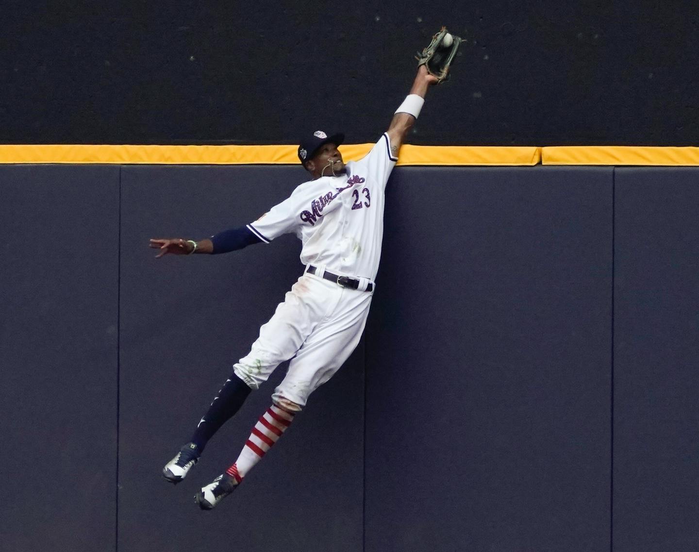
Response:
[{"label": "dark blackish backdrop above the yellow strip, behind the raised glove", "polygon": [[694,145],[696,1],[1,5],[1,143],[375,140],[442,24],[417,144]]}]

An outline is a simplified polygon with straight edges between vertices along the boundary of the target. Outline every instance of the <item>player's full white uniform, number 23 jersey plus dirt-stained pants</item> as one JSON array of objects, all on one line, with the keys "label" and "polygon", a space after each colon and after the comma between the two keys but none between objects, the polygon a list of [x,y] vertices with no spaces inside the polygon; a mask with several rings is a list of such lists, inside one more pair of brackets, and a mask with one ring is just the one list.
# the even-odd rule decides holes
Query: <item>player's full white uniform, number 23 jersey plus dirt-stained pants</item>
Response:
[{"label": "player's full white uniform, number 23 jersey plus dirt-stained pants", "polygon": [[[303,242],[302,263],[373,280],[381,257],[384,191],[396,161],[384,134],[366,157],[347,163],[346,174],[304,182],[247,228],[265,242],[294,232]],[[304,273],[233,370],[257,389],[291,358],[272,399],[303,407],[359,343],[372,296],[373,291]]]}]

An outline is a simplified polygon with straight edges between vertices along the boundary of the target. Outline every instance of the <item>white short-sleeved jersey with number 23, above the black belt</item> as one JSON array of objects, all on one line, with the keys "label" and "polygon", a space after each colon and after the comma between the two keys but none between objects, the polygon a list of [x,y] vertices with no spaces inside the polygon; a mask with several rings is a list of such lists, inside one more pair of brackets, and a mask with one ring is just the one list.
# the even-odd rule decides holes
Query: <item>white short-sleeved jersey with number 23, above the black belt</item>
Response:
[{"label": "white short-sleeved jersey with number 23, above the black belt", "polygon": [[346,174],[304,182],[247,228],[264,242],[294,232],[303,242],[303,264],[373,280],[384,235],[384,191],[397,160],[384,133],[365,157],[347,163]]}]

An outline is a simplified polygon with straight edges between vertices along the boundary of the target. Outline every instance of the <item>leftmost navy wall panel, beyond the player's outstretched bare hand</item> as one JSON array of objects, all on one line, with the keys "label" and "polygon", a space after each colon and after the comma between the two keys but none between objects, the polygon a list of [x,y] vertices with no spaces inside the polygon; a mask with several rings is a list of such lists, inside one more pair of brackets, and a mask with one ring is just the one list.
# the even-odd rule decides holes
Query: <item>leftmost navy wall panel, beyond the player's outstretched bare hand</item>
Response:
[{"label": "leftmost navy wall panel, beyond the player's outstretched bare hand", "polygon": [[119,167],[0,167],[0,549],[115,550]]}]

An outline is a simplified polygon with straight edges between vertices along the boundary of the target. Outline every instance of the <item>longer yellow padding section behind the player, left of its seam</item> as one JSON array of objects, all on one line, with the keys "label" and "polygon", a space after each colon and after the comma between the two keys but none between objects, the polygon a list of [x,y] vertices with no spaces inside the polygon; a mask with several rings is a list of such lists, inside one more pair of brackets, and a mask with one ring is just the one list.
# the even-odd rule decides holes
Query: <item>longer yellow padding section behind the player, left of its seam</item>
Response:
[{"label": "longer yellow padding section behind the player, left of its seam", "polygon": [[[340,147],[345,161],[373,144]],[[398,165],[535,165],[539,147],[419,146],[401,148]],[[1,164],[258,165],[299,163],[295,145],[0,145]]]}]

